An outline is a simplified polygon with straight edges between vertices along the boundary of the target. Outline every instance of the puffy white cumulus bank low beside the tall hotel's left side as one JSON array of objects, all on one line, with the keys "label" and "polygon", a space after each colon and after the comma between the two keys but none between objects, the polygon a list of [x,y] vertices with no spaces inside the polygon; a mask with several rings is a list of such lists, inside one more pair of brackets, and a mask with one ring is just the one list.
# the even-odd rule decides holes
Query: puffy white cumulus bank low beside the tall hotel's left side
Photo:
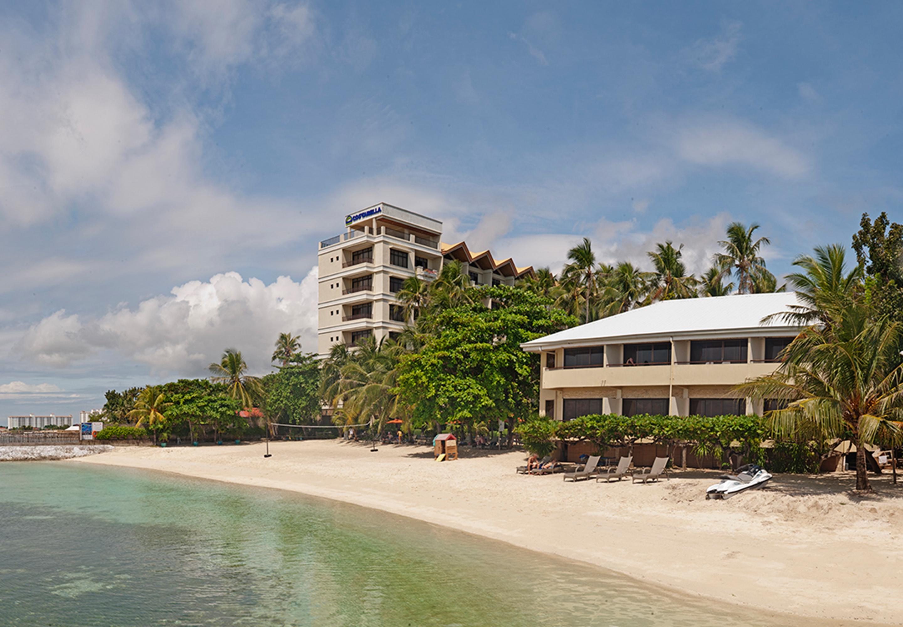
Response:
[{"label": "puffy white cumulus bank low beside the tall hotel's left side", "polygon": [[301,282],[280,276],[269,285],[228,272],[99,317],[56,312],[25,332],[15,351],[56,367],[114,351],[155,372],[199,376],[225,348],[235,347],[260,372],[280,332],[300,334],[304,348],[315,350],[316,303],[316,267]]}]

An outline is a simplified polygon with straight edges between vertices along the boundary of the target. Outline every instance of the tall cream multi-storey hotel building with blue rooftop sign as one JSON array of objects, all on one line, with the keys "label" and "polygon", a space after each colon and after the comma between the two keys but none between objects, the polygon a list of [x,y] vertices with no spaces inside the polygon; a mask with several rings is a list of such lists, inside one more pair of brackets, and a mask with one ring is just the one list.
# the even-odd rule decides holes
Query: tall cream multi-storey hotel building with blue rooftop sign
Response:
[{"label": "tall cream multi-storey hotel building with blue rooftop sign", "polygon": [[385,202],[345,217],[346,231],[320,242],[318,342],[320,357],[340,343],[381,342],[405,328],[396,294],[405,279],[432,281],[446,260],[478,285],[514,285],[532,273],[511,259],[497,262],[488,250],[470,252],[464,242],[442,244],[442,222]]}]

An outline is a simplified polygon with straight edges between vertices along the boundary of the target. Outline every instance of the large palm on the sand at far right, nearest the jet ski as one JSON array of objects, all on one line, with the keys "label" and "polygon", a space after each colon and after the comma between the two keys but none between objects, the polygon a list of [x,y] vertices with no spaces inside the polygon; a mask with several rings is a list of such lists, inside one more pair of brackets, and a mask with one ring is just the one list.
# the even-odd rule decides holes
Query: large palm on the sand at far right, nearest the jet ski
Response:
[{"label": "large palm on the sand at far right, nearest the jet ski", "polygon": [[788,403],[767,416],[778,436],[818,442],[849,438],[856,446],[856,490],[871,491],[865,446],[898,440],[903,426],[901,324],[887,316],[876,320],[865,300],[848,301],[821,316],[831,323],[806,327],[782,353],[774,374],[737,391]]}]

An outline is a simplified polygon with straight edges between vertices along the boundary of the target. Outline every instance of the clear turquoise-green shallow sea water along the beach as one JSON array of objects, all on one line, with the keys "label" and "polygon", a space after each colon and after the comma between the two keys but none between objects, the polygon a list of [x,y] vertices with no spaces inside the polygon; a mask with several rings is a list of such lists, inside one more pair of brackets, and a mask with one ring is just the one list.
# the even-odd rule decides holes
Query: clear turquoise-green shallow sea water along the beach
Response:
[{"label": "clear turquoise-green shallow sea water along the beach", "polygon": [[163,473],[0,463],[0,534],[3,625],[788,624],[375,510]]}]

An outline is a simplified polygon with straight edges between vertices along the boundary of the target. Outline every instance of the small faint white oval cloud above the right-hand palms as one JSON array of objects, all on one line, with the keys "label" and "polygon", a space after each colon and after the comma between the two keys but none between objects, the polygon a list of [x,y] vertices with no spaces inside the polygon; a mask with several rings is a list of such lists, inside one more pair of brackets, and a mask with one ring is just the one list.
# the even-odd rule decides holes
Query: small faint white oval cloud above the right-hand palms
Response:
[{"label": "small faint white oval cloud above the right-hand palms", "polygon": [[737,120],[713,119],[684,126],[676,133],[675,150],[691,164],[745,165],[787,179],[810,169],[804,154]]}]

